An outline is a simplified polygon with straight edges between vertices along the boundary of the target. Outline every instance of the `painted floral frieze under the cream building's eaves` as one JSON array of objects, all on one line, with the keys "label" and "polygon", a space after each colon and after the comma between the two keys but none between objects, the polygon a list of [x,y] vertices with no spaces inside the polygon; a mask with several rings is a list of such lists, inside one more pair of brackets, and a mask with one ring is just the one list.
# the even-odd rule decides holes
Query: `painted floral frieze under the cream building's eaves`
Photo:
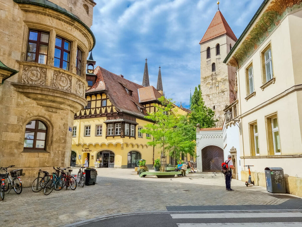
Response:
[{"label": "painted floral frieze under the cream building's eaves", "polygon": [[276,26],[279,25],[285,15],[299,8],[302,8],[302,0],[272,1],[259,18],[259,21],[255,24],[245,40],[233,54],[229,64],[240,68],[265,41]]}]

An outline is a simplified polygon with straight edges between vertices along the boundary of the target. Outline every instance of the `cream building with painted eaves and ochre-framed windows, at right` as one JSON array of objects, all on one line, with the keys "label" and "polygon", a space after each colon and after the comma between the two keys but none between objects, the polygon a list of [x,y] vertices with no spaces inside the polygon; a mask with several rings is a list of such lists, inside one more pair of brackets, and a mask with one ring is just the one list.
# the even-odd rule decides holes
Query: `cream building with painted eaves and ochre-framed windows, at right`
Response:
[{"label": "cream building with painted eaves and ochre-framed windows, at right", "polygon": [[[241,179],[266,186],[265,167],[284,169],[302,196],[302,1],[262,3],[224,62],[237,68]],[[234,110],[234,109],[233,109]],[[235,111],[236,111],[235,110]]]}]

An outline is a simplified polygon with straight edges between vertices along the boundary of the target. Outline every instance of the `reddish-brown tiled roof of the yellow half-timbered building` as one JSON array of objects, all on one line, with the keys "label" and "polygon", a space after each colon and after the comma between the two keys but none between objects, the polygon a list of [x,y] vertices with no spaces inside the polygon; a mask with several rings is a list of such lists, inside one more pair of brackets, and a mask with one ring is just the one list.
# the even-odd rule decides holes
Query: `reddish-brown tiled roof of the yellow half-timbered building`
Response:
[{"label": "reddish-brown tiled roof of the yellow half-timbered building", "polygon": [[[129,81],[100,66],[95,68],[94,74],[97,75],[96,82],[86,91],[86,94],[105,92],[117,111],[133,114],[138,117],[145,117],[147,115],[144,106],[140,104],[138,90],[141,88],[148,89],[148,87],[143,87],[142,85]],[[154,100],[161,97],[161,94],[153,86],[150,87],[152,87],[152,89],[146,92],[147,97],[154,97]],[[132,95],[129,95],[125,88],[131,90]],[[144,111],[141,112],[140,108]]]}]

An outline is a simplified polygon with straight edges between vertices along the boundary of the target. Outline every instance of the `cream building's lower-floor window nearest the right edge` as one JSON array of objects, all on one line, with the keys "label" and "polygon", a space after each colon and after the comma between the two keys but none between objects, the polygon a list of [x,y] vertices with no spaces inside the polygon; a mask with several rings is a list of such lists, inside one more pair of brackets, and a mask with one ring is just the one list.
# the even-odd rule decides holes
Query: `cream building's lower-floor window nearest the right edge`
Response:
[{"label": "cream building's lower-floor window nearest the right edge", "polygon": [[279,125],[277,114],[266,118],[268,150],[270,155],[281,154]]}]

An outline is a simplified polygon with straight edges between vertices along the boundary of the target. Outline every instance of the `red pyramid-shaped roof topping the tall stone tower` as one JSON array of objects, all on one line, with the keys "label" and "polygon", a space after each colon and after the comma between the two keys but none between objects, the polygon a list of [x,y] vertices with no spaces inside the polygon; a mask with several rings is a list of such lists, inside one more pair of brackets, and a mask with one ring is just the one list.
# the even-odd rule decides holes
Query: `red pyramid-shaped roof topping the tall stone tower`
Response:
[{"label": "red pyramid-shaped roof topping the tall stone tower", "polygon": [[226,19],[223,17],[220,10],[218,10],[199,44],[202,44],[224,34],[228,35],[234,41],[237,41],[236,35],[230,28],[229,24],[226,22]]}]

